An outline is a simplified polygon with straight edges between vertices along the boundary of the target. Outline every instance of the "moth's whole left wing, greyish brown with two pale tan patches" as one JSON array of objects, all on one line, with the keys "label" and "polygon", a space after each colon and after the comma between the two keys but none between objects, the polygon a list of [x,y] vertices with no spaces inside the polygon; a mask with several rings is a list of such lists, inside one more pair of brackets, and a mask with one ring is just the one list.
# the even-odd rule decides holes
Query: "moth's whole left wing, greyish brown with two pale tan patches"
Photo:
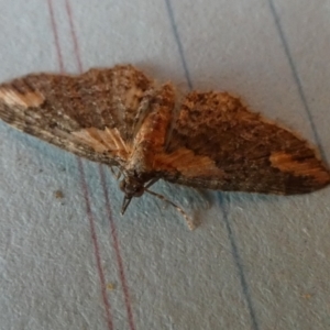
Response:
[{"label": "moth's whole left wing, greyish brown with two pale tan patches", "polygon": [[134,67],[34,74],[0,85],[0,118],[91,161],[125,163],[153,81]]}]

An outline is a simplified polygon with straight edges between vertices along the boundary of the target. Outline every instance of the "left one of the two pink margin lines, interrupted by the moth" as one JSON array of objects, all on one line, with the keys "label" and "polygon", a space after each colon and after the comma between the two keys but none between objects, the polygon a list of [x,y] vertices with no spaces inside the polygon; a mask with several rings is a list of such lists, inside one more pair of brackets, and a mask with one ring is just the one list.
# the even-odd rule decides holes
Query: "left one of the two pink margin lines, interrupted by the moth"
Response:
[{"label": "left one of the two pink margin lines, interrupted by the moth", "polygon": [[[59,64],[61,72],[64,72],[64,65],[63,65],[63,56],[61,52],[61,46],[58,42],[58,34],[57,34],[57,28],[55,23],[55,16],[54,16],[54,11],[53,11],[53,3],[52,0],[48,0],[48,9],[50,9],[50,14],[51,14],[51,22],[52,22],[52,30],[55,36],[55,47],[57,51],[57,59]],[[106,286],[106,278],[105,278],[105,273],[101,264],[101,257],[100,257],[100,250],[99,250],[99,244],[96,235],[96,230],[95,230],[95,220],[92,217],[91,208],[90,208],[90,200],[88,196],[88,188],[85,179],[85,173],[84,173],[84,167],[82,167],[82,162],[79,157],[76,157],[77,163],[78,163],[78,169],[80,174],[80,185],[82,188],[82,194],[84,194],[84,200],[86,204],[86,213],[89,220],[89,227],[90,227],[90,234],[91,234],[91,240],[94,243],[94,250],[95,250],[95,256],[96,256],[96,262],[97,262],[97,268],[98,268],[98,274],[100,277],[101,282],[101,292],[102,292],[102,299],[103,299],[103,305],[106,309],[106,315],[107,315],[107,324],[109,330],[113,330],[113,322],[112,322],[112,316],[110,311],[110,302],[108,300],[107,296],[107,286]]]}]

